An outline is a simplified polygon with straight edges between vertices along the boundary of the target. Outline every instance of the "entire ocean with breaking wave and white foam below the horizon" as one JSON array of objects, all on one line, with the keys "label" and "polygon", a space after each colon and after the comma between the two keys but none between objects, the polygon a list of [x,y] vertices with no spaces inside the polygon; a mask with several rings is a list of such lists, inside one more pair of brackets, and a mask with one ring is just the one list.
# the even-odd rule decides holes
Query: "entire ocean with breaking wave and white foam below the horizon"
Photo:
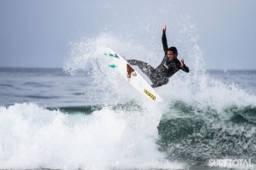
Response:
[{"label": "entire ocean with breaking wave and white foam below the horizon", "polygon": [[165,103],[93,69],[72,74],[0,68],[0,169],[219,169],[209,161],[228,158],[255,164],[256,71],[179,72],[155,89]]}]

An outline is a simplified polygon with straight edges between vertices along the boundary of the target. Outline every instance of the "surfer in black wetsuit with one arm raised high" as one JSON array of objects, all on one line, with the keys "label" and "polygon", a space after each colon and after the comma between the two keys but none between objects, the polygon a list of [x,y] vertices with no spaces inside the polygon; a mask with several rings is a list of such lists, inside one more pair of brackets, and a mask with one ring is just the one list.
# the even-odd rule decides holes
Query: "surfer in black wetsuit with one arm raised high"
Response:
[{"label": "surfer in black wetsuit with one arm raised high", "polygon": [[143,73],[149,77],[153,83],[151,85],[153,88],[168,84],[169,78],[172,77],[174,73],[178,72],[180,69],[186,73],[189,73],[189,68],[186,67],[184,60],[181,59],[179,61],[177,59],[178,50],[176,47],[168,48],[168,40],[165,34],[166,29],[167,26],[163,26],[162,46],[165,56],[163,57],[162,62],[158,67],[154,68],[146,62],[127,60],[129,64],[136,65],[141,69]]}]

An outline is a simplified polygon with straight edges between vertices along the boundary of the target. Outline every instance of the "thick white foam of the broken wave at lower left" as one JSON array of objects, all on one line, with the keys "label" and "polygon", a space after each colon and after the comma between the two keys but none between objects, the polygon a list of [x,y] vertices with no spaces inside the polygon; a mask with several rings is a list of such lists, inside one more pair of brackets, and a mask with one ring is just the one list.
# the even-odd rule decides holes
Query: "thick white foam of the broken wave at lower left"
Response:
[{"label": "thick white foam of the broken wave at lower left", "polygon": [[[152,113],[63,114],[34,103],[0,108],[1,168],[170,168],[155,145]],[[155,116],[153,116],[155,117]]]}]

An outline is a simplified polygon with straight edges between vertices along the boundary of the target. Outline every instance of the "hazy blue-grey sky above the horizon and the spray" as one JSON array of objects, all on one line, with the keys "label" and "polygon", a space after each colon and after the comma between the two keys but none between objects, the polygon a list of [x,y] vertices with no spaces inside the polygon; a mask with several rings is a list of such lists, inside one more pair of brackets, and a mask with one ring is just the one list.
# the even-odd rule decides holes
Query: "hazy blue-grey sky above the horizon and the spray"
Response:
[{"label": "hazy blue-grey sky above the horizon and the spray", "polygon": [[0,0],[0,67],[63,67],[70,42],[110,29],[132,38],[143,23],[156,37],[166,21],[175,33],[171,15],[191,17],[206,68],[256,69],[255,0]]}]

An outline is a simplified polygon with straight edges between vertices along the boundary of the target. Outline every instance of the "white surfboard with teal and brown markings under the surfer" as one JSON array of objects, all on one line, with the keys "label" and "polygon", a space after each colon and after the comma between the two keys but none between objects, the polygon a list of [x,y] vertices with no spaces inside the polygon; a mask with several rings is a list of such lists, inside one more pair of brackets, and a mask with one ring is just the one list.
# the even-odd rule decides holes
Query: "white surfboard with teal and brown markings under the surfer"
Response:
[{"label": "white surfboard with teal and brown markings under the surfer", "polygon": [[137,73],[137,71],[131,67],[131,65],[125,61],[125,59],[117,54],[114,50],[107,48],[104,52],[105,56],[112,57],[109,67],[118,70],[119,73],[135,88],[140,91],[145,97],[148,97],[155,102],[163,103],[164,100],[160,97],[155,90],[147,83],[143,77]]}]

